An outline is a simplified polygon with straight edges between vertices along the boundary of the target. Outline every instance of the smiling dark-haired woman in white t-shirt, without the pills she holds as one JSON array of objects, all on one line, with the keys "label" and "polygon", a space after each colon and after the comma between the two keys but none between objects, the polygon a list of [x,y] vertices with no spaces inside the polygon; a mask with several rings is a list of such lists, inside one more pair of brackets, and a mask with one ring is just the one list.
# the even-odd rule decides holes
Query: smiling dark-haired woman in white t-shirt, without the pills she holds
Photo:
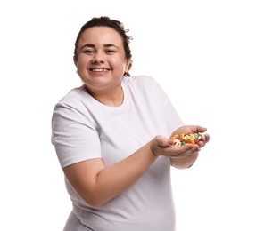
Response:
[{"label": "smiling dark-haired woman in white t-shirt, without the pills she holds", "polygon": [[152,77],[129,75],[127,32],[108,17],[80,29],[83,84],[54,108],[52,142],[73,203],[64,230],[175,230],[170,166],[192,166],[210,139],[173,145],[173,135],[206,128],[184,126]]}]

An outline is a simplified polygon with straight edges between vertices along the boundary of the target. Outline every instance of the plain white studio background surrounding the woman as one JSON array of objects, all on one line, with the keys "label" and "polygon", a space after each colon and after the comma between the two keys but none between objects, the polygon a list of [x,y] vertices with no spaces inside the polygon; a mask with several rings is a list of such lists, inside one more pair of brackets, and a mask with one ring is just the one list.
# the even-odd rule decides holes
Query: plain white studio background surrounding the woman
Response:
[{"label": "plain white studio background surrounding the woman", "polygon": [[51,116],[80,84],[72,63],[79,28],[103,15],[134,38],[131,74],[153,76],[184,122],[211,135],[192,168],[172,171],[178,231],[255,231],[253,3],[1,1],[0,229],[62,230],[71,204]]}]

